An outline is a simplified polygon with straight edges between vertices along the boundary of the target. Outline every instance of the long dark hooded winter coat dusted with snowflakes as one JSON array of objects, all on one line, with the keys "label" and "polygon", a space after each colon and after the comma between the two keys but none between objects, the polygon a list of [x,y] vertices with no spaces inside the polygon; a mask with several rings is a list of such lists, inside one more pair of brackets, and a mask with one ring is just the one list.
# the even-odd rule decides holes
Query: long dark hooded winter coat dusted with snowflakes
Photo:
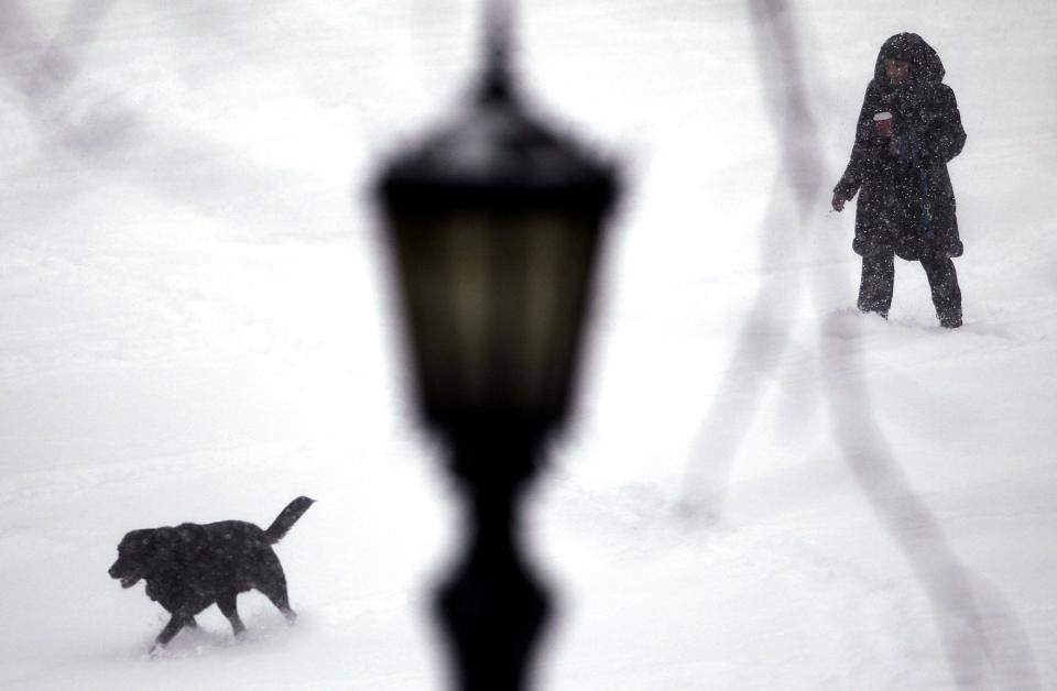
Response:
[{"label": "long dark hooded winter coat dusted with snowflakes", "polygon": [[[885,58],[909,63],[898,86],[884,73]],[[913,33],[881,46],[856,127],[851,161],[833,189],[846,199],[859,193],[854,251],[905,260],[960,256],[955,191],[947,162],[966,143],[955,92],[942,83],[944,64]],[[873,117],[891,112],[894,136],[876,132]]]}]

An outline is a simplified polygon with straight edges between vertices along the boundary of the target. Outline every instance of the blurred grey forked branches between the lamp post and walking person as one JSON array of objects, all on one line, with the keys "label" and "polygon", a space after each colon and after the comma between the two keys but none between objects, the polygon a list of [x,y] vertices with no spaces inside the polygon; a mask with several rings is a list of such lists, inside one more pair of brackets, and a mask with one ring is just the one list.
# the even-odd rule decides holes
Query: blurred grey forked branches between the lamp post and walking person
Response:
[{"label": "blurred grey forked branches between the lamp post and walking person", "polygon": [[[774,131],[782,142],[781,173],[761,233],[763,252],[771,256],[778,253],[792,256],[795,253],[792,245],[809,228],[809,216],[820,200],[828,199],[822,186],[822,147],[808,108],[797,28],[788,3],[750,0],[750,8],[761,83]],[[767,78],[770,75],[777,78]],[[809,286],[814,299],[844,289],[816,275]],[[778,293],[788,295],[793,289],[787,281],[778,283],[770,278],[761,289],[739,337],[739,349],[728,368],[730,374],[706,415],[698,458],[687,473],[684,504],[691,516],[704,511],[718,517],[730,464],[754,413],[748,410],[741,419],[732,420],[723,405],[724,396],[734,388],[744,395],[748,388],[751,399],[758,402],[788,341],[788,327],[769,319],[769,300]],[[859,341],[837,343],[826,337],[826,331],[827,325],[820,325],[821,362],[840,360],[852,365],[839,386],[831,379],[821,377],[833,437],[871,507],[928,597],[958,688],[1005,688],[1011,683],[1018,689],[1038,688],[1034,656],[1015,613],[992,592],[987,619],[981,614],[970,574],[948,545],[928,506],[914,493],[874,421],[870,393],[860,374],[865,365]],[[755,365],[755,372],[749,377],[738,374],[748,369],[743,366],[745,363]],[[1001,657],[992,649],[989,627],[1002,629],[1005,646]]]}]

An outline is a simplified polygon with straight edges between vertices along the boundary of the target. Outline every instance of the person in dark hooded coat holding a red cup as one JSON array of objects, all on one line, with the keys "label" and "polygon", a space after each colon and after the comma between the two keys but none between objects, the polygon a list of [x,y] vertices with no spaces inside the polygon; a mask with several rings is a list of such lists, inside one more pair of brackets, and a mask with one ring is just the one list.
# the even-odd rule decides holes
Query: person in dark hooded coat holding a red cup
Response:
[{"label": "person in dark hooded coat holding a red cup", "polygon": [[852,243],[862,256],[859,309],[887,317],[897,254],[922,263],[939,322],[957,328],[961,290],[950,257],[962,245],[947,162],[961,152],[966,131],[944,74],[939,55],[917,34],[884,42],[832,206],[841,211],[859,193]]}]

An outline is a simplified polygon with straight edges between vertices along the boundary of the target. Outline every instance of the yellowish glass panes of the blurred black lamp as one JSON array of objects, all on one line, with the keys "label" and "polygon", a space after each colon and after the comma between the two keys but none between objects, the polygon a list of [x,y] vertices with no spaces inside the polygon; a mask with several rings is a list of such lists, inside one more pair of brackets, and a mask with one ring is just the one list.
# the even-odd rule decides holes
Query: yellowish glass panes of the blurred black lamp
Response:
[{"label": "yellowish glass panes of the blurred black lamp", "polygon": [[560,416],[597,237],[575,220],[464,210],[397,221],[427,415]]}]

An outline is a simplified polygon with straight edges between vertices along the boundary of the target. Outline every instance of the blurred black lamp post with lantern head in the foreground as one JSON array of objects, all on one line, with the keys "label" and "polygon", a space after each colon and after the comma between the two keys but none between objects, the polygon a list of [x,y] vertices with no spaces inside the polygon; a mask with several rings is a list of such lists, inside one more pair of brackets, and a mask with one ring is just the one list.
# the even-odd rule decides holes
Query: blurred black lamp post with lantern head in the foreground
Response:
[{"label": "blurred black lamp post with lantern head in the foreground", "polygon": [[548,597],[517,502],[566,417],[614,172],[531,118],[509,70],[509,7],[462,114],[395,156],[378,195],[425,423],[467,501],[462,560],[437,608],[456,684],[526,687]]}]

